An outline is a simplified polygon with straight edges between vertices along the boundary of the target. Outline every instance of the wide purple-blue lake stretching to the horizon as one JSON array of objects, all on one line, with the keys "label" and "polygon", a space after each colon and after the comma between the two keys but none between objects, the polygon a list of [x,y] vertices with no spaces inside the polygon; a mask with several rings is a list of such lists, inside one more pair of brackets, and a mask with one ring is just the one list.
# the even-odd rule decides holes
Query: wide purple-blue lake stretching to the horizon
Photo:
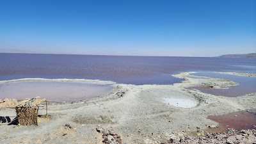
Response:
[{"label": "wide purple-blue lake stretching to the horizon", "polygon": [[173,84],[172,74],[188,71],[249,72],[254,58],[90,56],[0,53],[0,81],[30,77],[100,79],[127,84]]}]

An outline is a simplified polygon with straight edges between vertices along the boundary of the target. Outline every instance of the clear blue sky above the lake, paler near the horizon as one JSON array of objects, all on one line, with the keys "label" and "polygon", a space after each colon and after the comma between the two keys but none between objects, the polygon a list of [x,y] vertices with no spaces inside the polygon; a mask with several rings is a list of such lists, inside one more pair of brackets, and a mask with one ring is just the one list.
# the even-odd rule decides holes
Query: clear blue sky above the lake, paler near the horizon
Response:
[{"label": "clear blue sky above the lake, paler near the horizon", "polygon": [[256,52],[256,1],[0,1],[0,52]]}]

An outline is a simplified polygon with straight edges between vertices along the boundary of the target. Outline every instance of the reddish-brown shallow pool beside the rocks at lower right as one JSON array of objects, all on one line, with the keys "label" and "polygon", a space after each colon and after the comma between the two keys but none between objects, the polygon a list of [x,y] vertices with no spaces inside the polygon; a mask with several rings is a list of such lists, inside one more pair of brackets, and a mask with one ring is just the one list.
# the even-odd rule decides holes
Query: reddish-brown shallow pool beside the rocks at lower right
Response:
[{"label": "reddish-brown shallow pool beside the rocks at lower right", "polygon": [[208,116],[210,120],[220,123],[217,128],[208,129],[208,132],[227,132],[227,128],[236,129],[253,129],[256,126],[255,109],[248,111],[237,111],[228,115]]}]

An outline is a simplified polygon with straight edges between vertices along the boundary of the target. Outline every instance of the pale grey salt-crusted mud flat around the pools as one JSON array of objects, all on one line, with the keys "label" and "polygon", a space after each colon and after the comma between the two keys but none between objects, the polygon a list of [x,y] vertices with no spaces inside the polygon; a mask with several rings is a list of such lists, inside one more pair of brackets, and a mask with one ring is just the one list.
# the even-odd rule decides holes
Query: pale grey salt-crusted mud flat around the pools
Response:
[{"label": "pale grey salt-crusted mud flat around the pools", "polygon": [[[184,79],[182,83],[113,84],[116,88],[104,97],[72,104],[51,104],[51,120],[40,122],[38,127],[0,125],[0,143],[118,143],[117,139],[122,143],[168,143],[171,138],[177,141],[204,136],[212,125],[218,127],[220,124],[210,120],[210,115],[256,108],[256,93],[216,97],[188,90],[193,86],[227,88],[238,84],[227,79],[205,79],[190,74],[175,75]],[[174,100],[178,105],[172,104]],[[0,111],[0,116],[14,114],[12,109]],[[102,133],[103,129],[109,133]],[[107,141],[108,138],[111,140]]]}]

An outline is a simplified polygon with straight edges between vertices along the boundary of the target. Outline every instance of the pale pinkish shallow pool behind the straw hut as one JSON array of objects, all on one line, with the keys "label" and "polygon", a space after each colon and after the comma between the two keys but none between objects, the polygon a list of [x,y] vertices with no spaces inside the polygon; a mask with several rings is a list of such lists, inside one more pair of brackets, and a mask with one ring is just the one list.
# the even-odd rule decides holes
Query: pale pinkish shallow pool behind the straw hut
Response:
[{"label": "pale pinkish shallow pool behind the straw hut", "polygon": [[26,99],[40,96],[50,101],[90,100],[111,92],[111,84],[85,82],[17,82],[0,84],[0,99]]}]

